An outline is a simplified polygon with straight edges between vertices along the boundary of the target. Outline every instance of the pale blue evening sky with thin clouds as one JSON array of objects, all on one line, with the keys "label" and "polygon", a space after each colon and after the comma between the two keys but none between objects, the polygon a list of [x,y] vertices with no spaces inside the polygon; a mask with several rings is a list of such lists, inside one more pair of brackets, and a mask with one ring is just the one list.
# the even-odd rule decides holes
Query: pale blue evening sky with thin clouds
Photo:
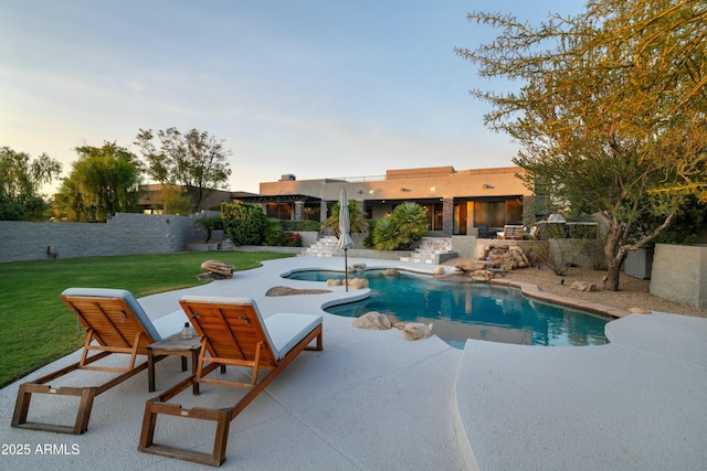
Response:
[{"label": "pale blue evening sky with thin clouds", "polygon": [[510,167],[517,146],[468,93],[498,84],[454,53],[497,32],[466,14],[537,24],[583,3],[2,0],[0,146],[67,176],[78,146],[139,154],[140,129],[196,128],[231,151],[229,190],[254,193],[283,174]]}]

